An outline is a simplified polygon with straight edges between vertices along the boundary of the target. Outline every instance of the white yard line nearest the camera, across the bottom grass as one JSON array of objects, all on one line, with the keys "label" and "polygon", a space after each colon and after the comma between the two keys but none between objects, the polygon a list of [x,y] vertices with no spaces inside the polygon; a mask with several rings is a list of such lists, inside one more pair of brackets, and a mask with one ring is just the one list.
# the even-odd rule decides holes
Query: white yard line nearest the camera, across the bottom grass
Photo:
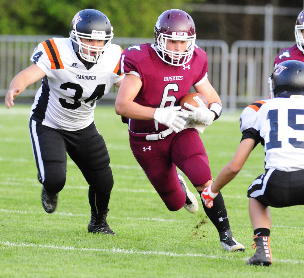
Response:
[{"label": "white yard line nearest the camera, across the bottom grass", "polygon": [[[73,247],[73,246],[57,246],[57,245],[42,245],[42,244],[33,244],[33,243],[14,243],[14,242],[2,242],[0,244],[4,246],[12,246],[12,247],[32,247],[32,248],[50,248],[50,249],[59,249],[59,250],[75,250],[75,251],[93,251],[93,252],[103,252],[103,253],[121,253],[121,254],[135,254],[135,255],[161,255],[161,256],[170,256],[170,257],[202,257],[202,258],[210,258],[210,259],[237,259],[237,260],[248,260],[247,258],[235,258],[233,255],[230,256],[216,256],[216,255],[204,255],[204,254],[179,254],[173,252],[162,252],[162,251],[150,251],[150,250],[138,250],[136,247],[132,249],[122,249],[119,247],[112,247],[111,249],[101,249],[101,248],[81,248],[81,247]],[[273,259],[275,262],[279,263],[304,263],[304,260],[289,260],[289,259]]]}]

